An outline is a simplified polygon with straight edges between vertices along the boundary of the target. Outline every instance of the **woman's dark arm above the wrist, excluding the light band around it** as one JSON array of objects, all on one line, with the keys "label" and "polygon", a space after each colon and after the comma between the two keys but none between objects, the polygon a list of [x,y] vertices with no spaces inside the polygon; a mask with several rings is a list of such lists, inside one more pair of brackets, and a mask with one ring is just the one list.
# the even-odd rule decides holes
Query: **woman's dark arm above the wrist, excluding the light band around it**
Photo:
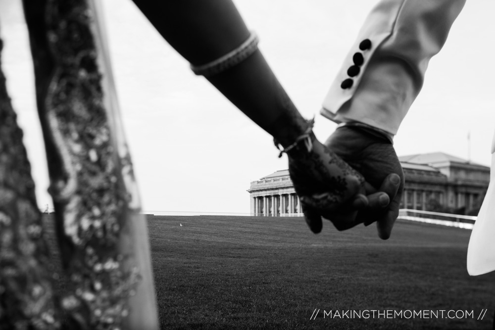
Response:
[{"label": "woman's dark arm above the wrist, excluding the light band around it", "polygon": [[[158,32],[193,65],[239,47],[249,31],[230,0],[134,0]],[[282,145],[307,127],[259,50],[208,80]]]}]

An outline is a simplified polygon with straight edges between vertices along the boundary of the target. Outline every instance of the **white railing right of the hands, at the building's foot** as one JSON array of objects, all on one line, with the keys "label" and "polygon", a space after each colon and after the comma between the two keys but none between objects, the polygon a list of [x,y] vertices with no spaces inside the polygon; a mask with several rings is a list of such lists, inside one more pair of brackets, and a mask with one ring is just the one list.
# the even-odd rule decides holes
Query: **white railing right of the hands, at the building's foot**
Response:
[{"label": "white railing right of the hands, at the building's foot", "polygon": [[425,222],[435,225],[473,229],[477,217],[411,209],[399,210],[397,219]]}]

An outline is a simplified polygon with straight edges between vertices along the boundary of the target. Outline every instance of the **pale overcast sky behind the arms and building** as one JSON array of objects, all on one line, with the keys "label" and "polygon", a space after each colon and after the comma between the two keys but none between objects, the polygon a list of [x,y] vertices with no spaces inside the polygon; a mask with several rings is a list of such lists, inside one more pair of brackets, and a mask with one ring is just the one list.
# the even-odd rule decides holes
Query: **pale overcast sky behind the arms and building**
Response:
[{"label": "pale overcast sky behind the arms and building", "polygon": [[[324,96],[375,4],[369,0],[235,0],[259,47],[324,141],[336,125]],[[33,68],[20,0],[0,0],[2,69],[24,130],[40,207],[51,205]],[[250,122],[158,35],[130,0],[104,0],[121,113],[147,211],[248,213],[249,183],[287,168]],[[442,151],[490,165],[495,129],[495,1],[467,1],[431,61],[395,138],[397,154]]]}]

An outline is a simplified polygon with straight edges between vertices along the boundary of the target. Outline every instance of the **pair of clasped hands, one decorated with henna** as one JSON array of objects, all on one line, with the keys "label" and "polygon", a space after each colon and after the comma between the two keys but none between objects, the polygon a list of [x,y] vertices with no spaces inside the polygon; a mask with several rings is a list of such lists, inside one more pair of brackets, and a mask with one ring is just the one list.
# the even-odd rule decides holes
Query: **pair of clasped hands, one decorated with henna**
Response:
[{"label": "pair of clasped hands, one decorated with henna", "polygon": [[377,223],[389,238],[398,216],[404,175],[394,147],[385,136],[361,127],[340,127],[325,142],[310,135],[289,150],[289,173],[313,233],[322,218],[338,230]]}]

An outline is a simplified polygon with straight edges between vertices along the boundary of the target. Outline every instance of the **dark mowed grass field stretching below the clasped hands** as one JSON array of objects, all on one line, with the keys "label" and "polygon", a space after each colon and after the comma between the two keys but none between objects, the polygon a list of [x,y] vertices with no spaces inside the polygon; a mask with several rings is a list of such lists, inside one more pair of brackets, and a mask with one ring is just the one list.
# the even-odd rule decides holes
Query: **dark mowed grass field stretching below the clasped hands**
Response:
[{"label": "dark mowed grass field stretching below the clasped hands", "polygon": [[[495,272],[467,274],[469,230],[398,220],[383,241],[299,217],[148,216],[148,231],[161,329],[492,328]],[[336,310],[473,314],[324,318]]]}]

